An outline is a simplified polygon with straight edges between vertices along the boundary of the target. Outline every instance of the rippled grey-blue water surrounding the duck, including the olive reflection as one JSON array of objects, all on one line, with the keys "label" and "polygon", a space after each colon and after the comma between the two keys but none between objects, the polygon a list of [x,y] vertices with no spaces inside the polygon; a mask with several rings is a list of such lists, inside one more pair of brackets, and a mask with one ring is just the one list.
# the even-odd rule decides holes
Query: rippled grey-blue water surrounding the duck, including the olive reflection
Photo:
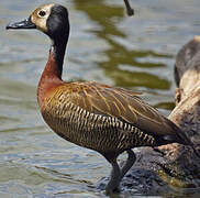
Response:
[{"label": "rippled grey-blue water surrounding the duck, including the olive reflection", "polygon": [[[96,183],[110,173],[105,160],[58,138],[38,112],[36,85],[49,41],[37,31],[4,30],[46,2],[0,2],[0,197],[103,197]],[[68,8],[71,24],[64,79],[144,91],[168,116],[175,56],[199,34],[200,1],[132,0],[133,18],[122,0],[56,2]]]}]

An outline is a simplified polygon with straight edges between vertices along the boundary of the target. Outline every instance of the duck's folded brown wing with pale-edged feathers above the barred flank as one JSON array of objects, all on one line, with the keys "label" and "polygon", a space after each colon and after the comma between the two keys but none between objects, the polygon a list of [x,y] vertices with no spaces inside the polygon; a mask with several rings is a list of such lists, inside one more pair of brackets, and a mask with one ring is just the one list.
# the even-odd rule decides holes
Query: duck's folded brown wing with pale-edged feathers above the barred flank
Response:
[{"label": "duck's folded brown wing with pale-edged feathers above the barred flank", "polygon": [[66,88],[70,102],[97,114],[115,117],[152,135],[174,134],[168,119],[145,103],[138,94],[98,82],[73,82]]}]

